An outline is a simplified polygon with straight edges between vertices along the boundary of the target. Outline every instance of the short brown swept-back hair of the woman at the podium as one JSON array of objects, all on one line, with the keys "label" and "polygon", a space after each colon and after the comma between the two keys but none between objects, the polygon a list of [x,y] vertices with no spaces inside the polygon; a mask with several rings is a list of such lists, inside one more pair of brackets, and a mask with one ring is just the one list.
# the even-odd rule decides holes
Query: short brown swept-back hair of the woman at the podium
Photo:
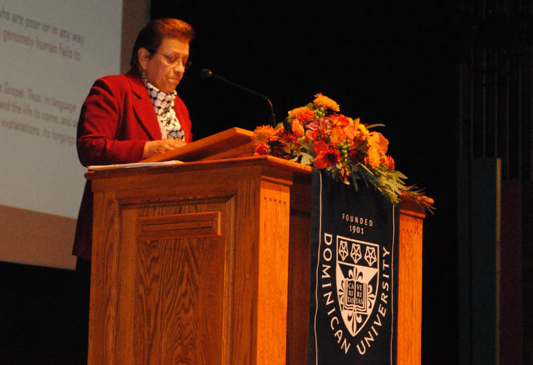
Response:
[{"label": "short brown swept-back hair of the woman at the podium", "polygon": [[164,38],[178,38],[190,42],[194,37],[195,30],[185,21],[174,18],[154,19],[139,32],[135,40],[132,60],[129,62],[129,66],[136,71],[140,70],[137,55],[139,48],[146,48],[151,57],[161,46]]}]

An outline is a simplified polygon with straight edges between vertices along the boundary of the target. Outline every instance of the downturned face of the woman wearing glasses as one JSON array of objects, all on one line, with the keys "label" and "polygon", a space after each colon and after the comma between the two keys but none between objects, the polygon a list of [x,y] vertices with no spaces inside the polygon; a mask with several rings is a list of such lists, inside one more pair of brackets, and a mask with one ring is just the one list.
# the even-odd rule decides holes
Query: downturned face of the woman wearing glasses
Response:
[{"label": "downturned face of the woman wearing glasses", "polygon": [[188,58],[189,42],[178,38],[163,38],[152,57],[146,48],[138,50],[138,61],[146,79],[163,93],[170,93],[178,86]]}]

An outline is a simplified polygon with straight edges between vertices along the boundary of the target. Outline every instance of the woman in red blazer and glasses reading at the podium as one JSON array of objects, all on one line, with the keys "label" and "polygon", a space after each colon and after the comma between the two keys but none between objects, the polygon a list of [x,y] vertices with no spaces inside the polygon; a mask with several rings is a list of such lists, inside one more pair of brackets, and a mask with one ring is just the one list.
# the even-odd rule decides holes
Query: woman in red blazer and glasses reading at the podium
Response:
[{"label": "woman in red blazer and glasses reading at the podium", "polygon": [[[175,88],[190,66],[194,30],[178,19],[156,19],[138,34],[125,75],[102,77],[93,84],[78,122],[78,157],[84,166],[137,162],[181,147],[192,140],[189,113]],[[84,189],[73,254],[89,308],[93,224],[90,182]],[[87,317],[85,326],[87,326]],[[84,329],[87,336],[87,328]],[[84,339],[87,361],[87,337]]]}]

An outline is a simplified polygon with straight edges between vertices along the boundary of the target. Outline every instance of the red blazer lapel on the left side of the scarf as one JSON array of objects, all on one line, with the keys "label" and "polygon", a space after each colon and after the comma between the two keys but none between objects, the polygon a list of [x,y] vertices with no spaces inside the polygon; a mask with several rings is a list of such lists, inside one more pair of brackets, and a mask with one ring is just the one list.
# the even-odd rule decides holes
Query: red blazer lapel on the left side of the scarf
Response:
[{"label": "red blazer lapel on the left side of the scarf", "polygon": [[138,122],[146,129],[152,140],[161,140],[161,130],[157,121],[154,105],[146,91],[146,86],[141,77],[130,71],[126,74],[129,84],[132,86],[132,92],[138,97],[133,102],[134,113]]}]

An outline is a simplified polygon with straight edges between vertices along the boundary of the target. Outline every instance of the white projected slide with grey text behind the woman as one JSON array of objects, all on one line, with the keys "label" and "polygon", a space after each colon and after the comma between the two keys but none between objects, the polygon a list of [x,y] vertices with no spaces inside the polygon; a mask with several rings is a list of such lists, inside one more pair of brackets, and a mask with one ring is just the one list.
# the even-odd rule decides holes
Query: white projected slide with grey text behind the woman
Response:
[{"label": "white projected slide with grey text behind the woman", "polygon": [[119,73],[121,29],[122,1],[1,1],[0,205],[77,218],[78,116],[94,80]]}]

